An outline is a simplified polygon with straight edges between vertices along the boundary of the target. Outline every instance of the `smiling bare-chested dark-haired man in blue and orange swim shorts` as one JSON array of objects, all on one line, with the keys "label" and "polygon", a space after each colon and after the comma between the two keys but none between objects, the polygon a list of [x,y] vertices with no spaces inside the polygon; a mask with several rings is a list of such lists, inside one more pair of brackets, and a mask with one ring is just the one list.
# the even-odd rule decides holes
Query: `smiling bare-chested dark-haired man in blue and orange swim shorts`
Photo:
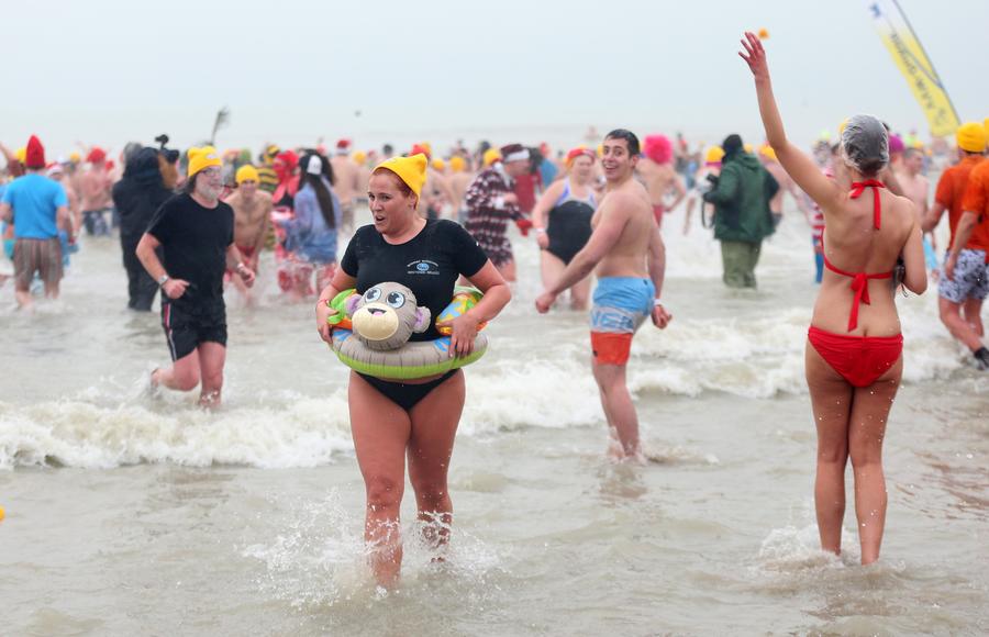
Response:
[{"label": "smiling bare-chested dark-haired man in blue and orange swim shorts", "polygon": [[659,302],[666,253],[648,192],[632,178],[640,156],[638,138],[619,128],[604,137],[602,147],[608,187],[591,222],[593,233],[536,299],[536,310],[545,314],[563,290],[594,272],[592,368],[612,436],[610,455],[642,461],[638,416],[625,383],[625,367],[632,336],[645,318],[652,317],[660,329],[673,320]]}]

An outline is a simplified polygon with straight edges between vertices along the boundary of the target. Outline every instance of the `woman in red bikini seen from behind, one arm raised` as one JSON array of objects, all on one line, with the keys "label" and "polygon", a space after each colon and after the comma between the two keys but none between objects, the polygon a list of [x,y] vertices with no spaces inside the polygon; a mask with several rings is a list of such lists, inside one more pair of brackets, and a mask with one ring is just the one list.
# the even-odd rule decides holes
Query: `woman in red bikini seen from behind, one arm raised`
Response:
[{"label": "woman in red bikini seen from behind, one arm raised", "polygon": [[[882,439],[903,371],[894,286],[927,287],[913,203],[876,179],[889,163],[886,128],[855,115],[842,132],[848,185],[829,179],[792,145],[773,97],[766,52],[752,33],[738,55],[755,76],[766,138],[780,164],[824,212],[825,272],[808,332],[807,384],[818,427],[814,503],[821,548],[840,554],[845,465],[852,457],[862,563],[879,559],[886,523]],[[893,278],[902,259],[902,280]]]}]

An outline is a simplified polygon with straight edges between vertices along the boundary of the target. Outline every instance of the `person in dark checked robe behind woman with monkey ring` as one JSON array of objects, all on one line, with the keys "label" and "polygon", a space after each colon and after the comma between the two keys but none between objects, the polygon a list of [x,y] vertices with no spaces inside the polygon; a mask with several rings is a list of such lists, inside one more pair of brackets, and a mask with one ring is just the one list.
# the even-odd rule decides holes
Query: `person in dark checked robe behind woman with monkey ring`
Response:
[{"label": "person in dark checked robe behind woman with monkey ring", "polygon": [[527,222],[513,191],[515,179],[529,171],[529,148],[522,144],[502,146],[499,159],[481,170],[465,193],[465,227],[491,258],[507,281],[515,280],[515,258],[505,232],[508,223]]}]

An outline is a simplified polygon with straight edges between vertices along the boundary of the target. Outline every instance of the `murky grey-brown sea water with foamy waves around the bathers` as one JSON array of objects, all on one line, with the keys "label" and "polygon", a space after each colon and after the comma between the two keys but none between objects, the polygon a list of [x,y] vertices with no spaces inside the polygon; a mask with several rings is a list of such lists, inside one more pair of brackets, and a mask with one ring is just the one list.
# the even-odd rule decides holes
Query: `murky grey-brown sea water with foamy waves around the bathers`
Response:
[{"label": "murky grey-brown sea water with foamy waves around the bathers", "polygon": [[[367,213],[363,213],[365,220]],[[663,298],[629,384],[651,461],[605,458],[587,316],[535,313],[520,282],[467,369],[447,559],[403,505],[397,589],[363,557],[364,484],[347,369],[288,304],[263,255],[258,302],[227,292],[224,405],[148,394],[157,313],[125,306],[120,247],[90,238],[55,302],[0,306],[0,633],[11,635],[978,635],[989,632],[989,376],[900,298],[903,387],[885,444],[879,563],[819,549],[803,380],[816,288],[788,214],[757,291],[727,290],[719,246],[667,215]],[[9,290],[8,283],[7,290]]]}]

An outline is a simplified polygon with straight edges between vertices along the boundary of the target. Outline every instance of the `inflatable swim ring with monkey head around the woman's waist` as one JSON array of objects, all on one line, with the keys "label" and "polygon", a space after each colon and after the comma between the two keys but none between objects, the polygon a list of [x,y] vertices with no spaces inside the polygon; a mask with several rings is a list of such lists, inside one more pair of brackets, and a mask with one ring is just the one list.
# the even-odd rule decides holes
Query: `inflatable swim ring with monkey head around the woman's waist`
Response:
[{"label": "inflatable swim ring with monkey head around the woman's waist", "polygon": [[[473,288],[457,288],[437,322],[459,316],[480,298]],[[330,306],[337,311],[327,318],[333,326],[333,351],[344,365],[368,376],[391,380],[436,376],[470,365],[488,348],[488,337],[478,333],[474,351],[463,358],[452,357],[448,327],[442,329],[446,334],[440,338],[410,343],[413,333],[429,328],[432,316],[429,308],[418,305],[412,290],[400,283],[378,283],[364,294],[345,290]]]}]

